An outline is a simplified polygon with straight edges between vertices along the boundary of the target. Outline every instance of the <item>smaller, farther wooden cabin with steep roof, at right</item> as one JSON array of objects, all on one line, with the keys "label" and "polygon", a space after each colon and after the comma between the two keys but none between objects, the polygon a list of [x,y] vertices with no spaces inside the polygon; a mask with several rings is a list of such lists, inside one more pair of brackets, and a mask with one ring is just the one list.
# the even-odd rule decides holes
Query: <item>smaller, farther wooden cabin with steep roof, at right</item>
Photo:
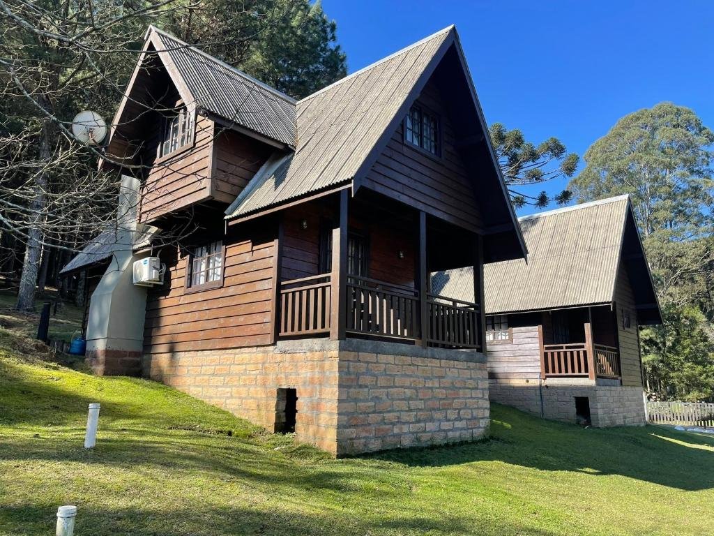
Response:
[{"label": "smaller, farther wooden cabin with steep roof, at right", "polygon": [[[528,263],[485,269],[491,400],[568,422],[644,424],[638,327],[662,319],[628,197],[519,222]],[[440,272],[433,288],[468,300],[471,277]]]}]

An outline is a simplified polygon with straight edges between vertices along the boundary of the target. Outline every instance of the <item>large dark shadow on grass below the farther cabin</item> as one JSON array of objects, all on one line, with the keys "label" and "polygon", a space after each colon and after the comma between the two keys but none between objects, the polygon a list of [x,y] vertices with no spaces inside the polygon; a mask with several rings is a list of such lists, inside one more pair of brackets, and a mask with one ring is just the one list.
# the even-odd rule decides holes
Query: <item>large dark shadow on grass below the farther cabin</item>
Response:
[{"label": "large dark shadow on grass below the farther cabin", "polygon": [[461,445],[371,457],[412,467],[499,461],[546,471],[587,472],[675,487],[714,487],[714,438],[662,427],[582,428],[491,405],[491,437]]}]

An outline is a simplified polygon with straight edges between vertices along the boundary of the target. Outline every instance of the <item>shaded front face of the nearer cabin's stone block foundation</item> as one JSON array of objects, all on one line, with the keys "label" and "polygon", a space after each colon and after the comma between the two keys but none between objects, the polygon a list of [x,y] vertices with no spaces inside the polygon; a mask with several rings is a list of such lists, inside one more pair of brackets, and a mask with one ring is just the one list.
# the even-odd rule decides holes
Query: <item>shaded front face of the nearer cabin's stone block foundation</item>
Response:
[{"label": "shaded front face of the nearer cabin's stone block foundation", "polygon": [[338,455],[486,434],[483,354],[394,343],[353,346],[339,358]]}]

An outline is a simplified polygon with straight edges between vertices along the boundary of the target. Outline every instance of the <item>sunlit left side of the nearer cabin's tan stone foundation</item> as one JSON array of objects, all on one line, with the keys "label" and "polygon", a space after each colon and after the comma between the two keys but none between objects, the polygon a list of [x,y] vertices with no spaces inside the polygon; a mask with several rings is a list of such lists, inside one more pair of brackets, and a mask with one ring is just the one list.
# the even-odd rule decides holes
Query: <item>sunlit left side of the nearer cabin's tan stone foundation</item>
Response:
[{"label": "sunlit left side of the nearer cabin's tan stone foundation", "polygon": [[144,356],[144,375],[273,432],[278,388],[296,389],[298,441],[337,453],[338,352],[279,347]]}]

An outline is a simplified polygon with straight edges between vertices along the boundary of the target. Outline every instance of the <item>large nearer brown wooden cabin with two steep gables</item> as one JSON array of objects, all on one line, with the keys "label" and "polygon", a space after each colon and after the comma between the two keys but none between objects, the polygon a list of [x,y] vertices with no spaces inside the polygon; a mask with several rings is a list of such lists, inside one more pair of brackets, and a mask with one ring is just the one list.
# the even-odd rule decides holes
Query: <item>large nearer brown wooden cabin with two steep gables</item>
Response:
[{"label": "large nearer brown wooden cabin with two steep gables", "polygon": [[[103,166],[165,271],[97,370],[338,455],[483,435],[483,265],[526,249],[453,26],[301,101],[151,27]],[[475,298],[433,292],[461,267]]]}]

